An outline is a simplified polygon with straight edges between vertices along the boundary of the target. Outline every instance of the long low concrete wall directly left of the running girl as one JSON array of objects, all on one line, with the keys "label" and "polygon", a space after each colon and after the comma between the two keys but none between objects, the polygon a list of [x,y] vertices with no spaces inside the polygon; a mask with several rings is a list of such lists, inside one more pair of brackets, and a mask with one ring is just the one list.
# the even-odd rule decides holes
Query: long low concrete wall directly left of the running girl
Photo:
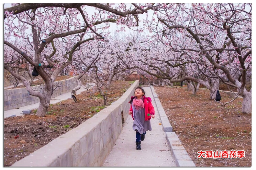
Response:
[{"label": "long low concrete wall directly left of the running girl", "polygon": [[110,106],[12,166],[102,166],[122,131],[122,120],[126,120],[130,109],[128,102],[138,85],[139,81],[136,80],[124,95]]}]

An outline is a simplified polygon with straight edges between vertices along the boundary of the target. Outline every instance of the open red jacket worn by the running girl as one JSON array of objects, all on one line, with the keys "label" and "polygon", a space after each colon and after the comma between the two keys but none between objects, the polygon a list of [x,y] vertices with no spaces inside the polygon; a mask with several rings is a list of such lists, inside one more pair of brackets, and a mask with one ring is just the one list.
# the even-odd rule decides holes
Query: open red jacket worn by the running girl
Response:
[{"label": "open red jacket worn by the running girl", "polygon": [[[131,97],[131,100],[134,99],[135,96],[132,96]],[[145,97],[143,96],[143,101],[144,101],[144,109],[145,109],[145,120],[150,120],[151,119],[151,116],[147,116],[147,114],[149,113],[150,115],[155,115],[155,109],[154,109],[154,106],[152,105],[152,100],[150,97]],[[130,102],[129,102],[130,103]],[[133,118],[133,110],[132,110],[132,105],[130,107],[130,110],[129,111],[132,111],[132,118]],[[134,120],[134,118],[133,118]]]}]

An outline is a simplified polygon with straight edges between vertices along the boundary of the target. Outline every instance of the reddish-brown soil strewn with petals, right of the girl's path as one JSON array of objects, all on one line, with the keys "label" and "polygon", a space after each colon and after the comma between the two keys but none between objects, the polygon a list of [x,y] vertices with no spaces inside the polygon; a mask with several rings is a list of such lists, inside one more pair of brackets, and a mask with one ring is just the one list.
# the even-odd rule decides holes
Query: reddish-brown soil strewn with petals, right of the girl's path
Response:
[{"label": "reddish-brown soil strewn with petals, right of the girl's path", "polygon": [[[242,114],[238,98],[225,107],[209,100],[209,90],[196,95],[187,88],[154,87],[173,131],[198,167],[251,167],[252,114]],[[230,101],[221,93],[221,102]],[[200,151],[245,151],[244,158],[197,158]]]}]

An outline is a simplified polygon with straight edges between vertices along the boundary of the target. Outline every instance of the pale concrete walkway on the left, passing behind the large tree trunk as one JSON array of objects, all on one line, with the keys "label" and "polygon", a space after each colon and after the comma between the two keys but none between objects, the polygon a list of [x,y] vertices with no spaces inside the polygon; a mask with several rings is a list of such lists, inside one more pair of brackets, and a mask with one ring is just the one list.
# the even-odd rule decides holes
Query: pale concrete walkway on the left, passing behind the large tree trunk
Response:
[{"label": "pale concrete walkway on the left, passing behind the large tree trunk", "polygon": [[[81,92],[86,91],[84,87],[81,87],[78,91],[77,94],[80,94]],[[51,99],[50,104],[58,103],[60,101],[70,99],[71,97],[71,92],[59,95]],[[27,106],[20,107],[18,109],[11,109],[11,110],[5,110],[4,111],[4,118],[6,117],[15,117],[15,116],[23,116],[22,112],[23,110],[31,110],[39,107],[39,102]]]}]

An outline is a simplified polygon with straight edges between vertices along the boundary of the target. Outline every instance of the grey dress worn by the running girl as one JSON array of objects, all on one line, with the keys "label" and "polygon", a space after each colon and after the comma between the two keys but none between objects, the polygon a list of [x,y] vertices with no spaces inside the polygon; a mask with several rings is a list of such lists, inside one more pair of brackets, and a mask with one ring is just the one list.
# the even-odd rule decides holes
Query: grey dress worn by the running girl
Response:
[{"label": "grey dress worn by the running girl", "polygon": [[[143,98],[142,98],[143,100]],[[141,109],[141,110],[136,110],[133,102],[132,102],[132,110],[133,110],[133,125],[132,128],[133,130],[137,130],[139,133],[143,133],[146,131],[151,131],[151,123],[150,120],[145,120],[145,108]]]}]

